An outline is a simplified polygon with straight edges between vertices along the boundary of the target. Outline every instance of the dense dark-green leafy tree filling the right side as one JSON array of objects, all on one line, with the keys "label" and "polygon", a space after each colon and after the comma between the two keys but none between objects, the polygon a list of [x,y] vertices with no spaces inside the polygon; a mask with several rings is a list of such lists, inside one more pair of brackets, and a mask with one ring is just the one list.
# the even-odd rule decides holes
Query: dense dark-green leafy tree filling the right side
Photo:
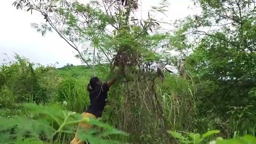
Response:
[{"label": "dense dark-green leafy tree filling the right side", "polygon": [[200,5],[202,14],[183,20],[174,37],[182,40],[182,50],[187,46],[194,50],[186,67],[203,84],[198,87],[198,96],[203,97],[199,111],[209,108],[208,115],[222,122],[230,116],[247,121],[256,114],[255,97],[250,95],[256,86],[255,2],[204,0],[195,5]]}]

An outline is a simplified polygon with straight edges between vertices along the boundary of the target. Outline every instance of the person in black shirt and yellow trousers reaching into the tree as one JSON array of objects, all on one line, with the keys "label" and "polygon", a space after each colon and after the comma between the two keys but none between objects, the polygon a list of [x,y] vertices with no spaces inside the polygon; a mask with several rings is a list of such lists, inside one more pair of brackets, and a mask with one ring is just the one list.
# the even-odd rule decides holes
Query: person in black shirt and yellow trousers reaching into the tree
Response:
[{"label": "person in black shirt and yellow trousers reaching into the tree", "polygon": [[[107,83],[100,82],[98,77],[92,77],[90,79],[90,83],[87,85],[87,91],[89,91],[90,96],[90,106],[87,110],[82,114],[83,117],[91,117],[96,119],[101,117],[102,111],[106,106],[106,99],[108,97],[108,91],[111,85],[116,82],[117,77],[110,79]],[[86,123],[79,123],[78,128],[89,130],[92,125]],[[70,144],[81,144],[83,141],[77,138],[77,132],[75,134],[75,138],[70,142]]]}]

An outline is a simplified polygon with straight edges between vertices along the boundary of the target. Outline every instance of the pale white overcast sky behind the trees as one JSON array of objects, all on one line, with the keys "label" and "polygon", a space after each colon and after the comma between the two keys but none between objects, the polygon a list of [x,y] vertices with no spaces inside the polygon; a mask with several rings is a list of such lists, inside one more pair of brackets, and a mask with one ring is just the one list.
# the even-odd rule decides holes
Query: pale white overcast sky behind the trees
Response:
[{"label": "pale white overcast sky behind the trees", "polygon": [[[82,1],[82,0],[81,0]],[[57,67],[62,67],[67,63],[81,65],[81,61],[74,57],[75,51],[61,39],[57,33],[47,33],[42,37],[41,33],[30,26],[30,23],[44,22],[41,15],[37,13],[16,10],[12,6],[13,0],[1,0],[0,13],[0,63],[6,56],[13,58],[14,52],[18,53],[30,61],[50,65],[58,62]],[[155,6],[159,1],[142,0],[142,8],[137,11],[137,18],[147,19],[150,6]],[[169,12],[167,17],[161,13],[156,13],[155,19],[171,22],[175,19],[186,17],[189,14],[198,13],[198,10],[188,9],[192,5],[190,0],[169,0]],[[167,26],[165,25],[165,28]]]}]

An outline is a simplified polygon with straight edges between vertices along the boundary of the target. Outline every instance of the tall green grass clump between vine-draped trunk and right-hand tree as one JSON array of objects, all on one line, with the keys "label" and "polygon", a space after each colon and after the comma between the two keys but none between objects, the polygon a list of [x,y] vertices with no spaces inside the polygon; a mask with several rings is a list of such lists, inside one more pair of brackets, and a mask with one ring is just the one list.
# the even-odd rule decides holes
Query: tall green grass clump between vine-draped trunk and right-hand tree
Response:
[{"label": "tall green grass clump between vine-draped trunk and right-hand tree", "polygon": [[162,97],[164,120],[170,130],[193,131],[195,127],[195,86],[182,77],[170,75],[157,89]]}]

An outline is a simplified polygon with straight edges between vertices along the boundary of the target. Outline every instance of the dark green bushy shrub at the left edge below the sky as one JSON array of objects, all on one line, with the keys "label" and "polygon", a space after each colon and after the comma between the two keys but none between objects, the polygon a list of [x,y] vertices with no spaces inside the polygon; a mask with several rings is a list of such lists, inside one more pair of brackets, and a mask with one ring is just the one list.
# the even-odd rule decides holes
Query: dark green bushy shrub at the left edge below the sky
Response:
[{"label": "dark green bushy shrub at the left edge below the sky", "polygon": [[15,95],[15,101],[12,102],[28,102],[30,97],[37,103],[48,102],[51,90],[49,86],[43,85],[46,80],[43,77],[50,75],[51,69],[52,67],[36,65],[16,54],[15,61],[4,63],[0,67],[1,101],[8,101],[7,98]]}]

